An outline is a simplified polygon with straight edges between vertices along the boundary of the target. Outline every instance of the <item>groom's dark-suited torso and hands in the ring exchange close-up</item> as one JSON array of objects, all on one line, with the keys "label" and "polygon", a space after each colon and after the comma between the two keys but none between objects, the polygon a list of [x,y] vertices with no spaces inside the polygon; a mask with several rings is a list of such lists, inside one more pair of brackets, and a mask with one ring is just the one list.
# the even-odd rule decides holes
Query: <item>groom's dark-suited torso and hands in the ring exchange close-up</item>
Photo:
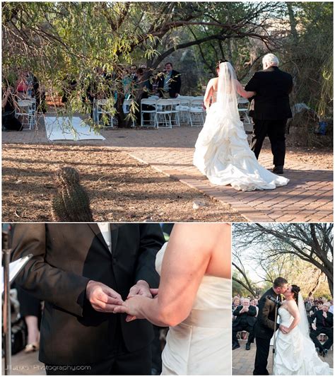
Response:
[{"label": "groom's dark-suited torso and hands in the ring exchange close-up", "polygon": [[16,224],[16,282],[45,301],[40,361],[47,374],[150,374],[153,327],[107,313],[158,286],[158,224]]}]

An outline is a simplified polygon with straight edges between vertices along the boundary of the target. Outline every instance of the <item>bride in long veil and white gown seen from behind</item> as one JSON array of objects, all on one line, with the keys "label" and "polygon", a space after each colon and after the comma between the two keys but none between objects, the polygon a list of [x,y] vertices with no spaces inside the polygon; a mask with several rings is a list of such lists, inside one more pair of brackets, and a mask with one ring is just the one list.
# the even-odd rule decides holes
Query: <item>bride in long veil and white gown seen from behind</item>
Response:
[{"label": "bride in long veil and white gown seen from behind", "polygon": [[204,105],[208,111],[195,144],[194,166],[214,185],[231,185],[235,190],[271,190],[287,185],[287,178],[260,166],[250,149],[238,112],[237,93],[245,98],[254,95],[237,81],[233,66],[223,62],[218,66],[218,77],[206,88]]}]

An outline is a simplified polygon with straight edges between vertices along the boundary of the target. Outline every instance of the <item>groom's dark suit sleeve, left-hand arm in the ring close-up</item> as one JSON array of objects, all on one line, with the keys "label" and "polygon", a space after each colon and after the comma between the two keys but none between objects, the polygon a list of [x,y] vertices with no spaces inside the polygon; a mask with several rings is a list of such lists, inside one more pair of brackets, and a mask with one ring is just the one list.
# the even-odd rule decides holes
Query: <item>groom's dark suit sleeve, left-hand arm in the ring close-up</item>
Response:
[{"label": "groom's dark suit sleeve, left-hand arm in the ring close-up", "polygon": [[46,224],[13,226],[13,260],[33,254],[16,277],[16,283],[36,298],[81,316],[89,279],[52,267],[45,262],[46,227]]}]

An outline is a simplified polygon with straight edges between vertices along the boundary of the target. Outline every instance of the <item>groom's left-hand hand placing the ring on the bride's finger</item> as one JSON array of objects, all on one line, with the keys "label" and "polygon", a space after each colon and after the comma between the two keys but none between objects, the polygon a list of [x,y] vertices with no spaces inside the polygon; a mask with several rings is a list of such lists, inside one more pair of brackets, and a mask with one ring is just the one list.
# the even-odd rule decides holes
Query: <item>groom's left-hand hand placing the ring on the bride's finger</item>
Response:
[{"label": "groom's left-hand hand placing the ring on the bride's finger", "polygon": [[112,313],[114,308],[122,305],[122,297],[109,286],[90,280],[86,286],[86,297],[95,311]]}]

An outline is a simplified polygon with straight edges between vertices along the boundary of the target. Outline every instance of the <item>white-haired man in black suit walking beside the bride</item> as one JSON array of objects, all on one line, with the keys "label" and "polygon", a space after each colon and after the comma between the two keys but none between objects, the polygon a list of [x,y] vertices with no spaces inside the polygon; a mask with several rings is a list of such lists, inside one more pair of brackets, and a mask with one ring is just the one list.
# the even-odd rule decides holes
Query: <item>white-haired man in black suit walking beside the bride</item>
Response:
[{"label": "white-haired man in black suit walking beside the bride", "polygon": [[249,99],[252,101],[249,114],[254,125],[251,149],[258,158],[263,141],[268,136],[274,155],[273,171],[283,174],[286,122],[292,117],[288,95],[293,88],[293,79],[278,68],[276,55],[266,54],[262,63],[263,71],[256,72],[245,87],[246,91],[256,92]]}]

